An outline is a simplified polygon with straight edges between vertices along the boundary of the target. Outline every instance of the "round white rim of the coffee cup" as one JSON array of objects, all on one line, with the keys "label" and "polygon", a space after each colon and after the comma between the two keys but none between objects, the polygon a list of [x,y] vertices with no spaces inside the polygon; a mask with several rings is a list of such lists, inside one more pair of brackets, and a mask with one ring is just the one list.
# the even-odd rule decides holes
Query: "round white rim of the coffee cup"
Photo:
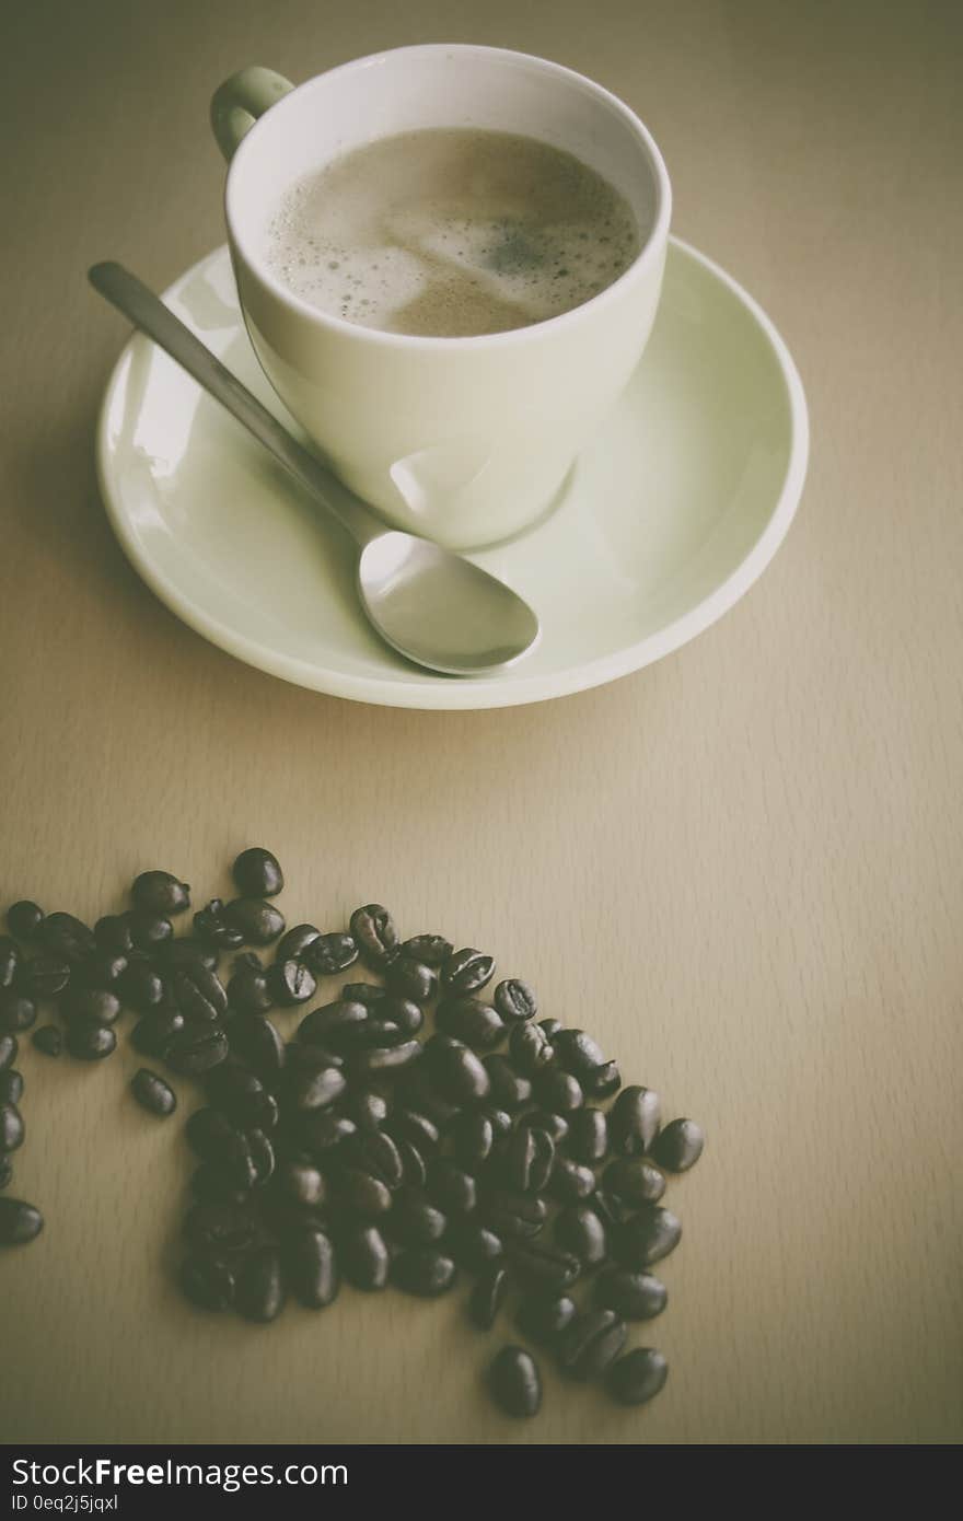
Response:
[{"label": "round white rim of the coffee cup", "polygon": [[[251,140],[257,135],[260,123],[266,120],[268,116],[275,117],[275,113],[284,113],[294,102],[295,96],[303,91],[319,85],[321,81],[329,81],[335,75],[353,73],[362,68],[371,68],[380,64],[386,58],[397,58],[400,55],[427,55],[427,53],[461,53],[461,55],[487,55],[490,58],[510,58],[510,59],[525,59],[528,64],[539,64],[542,68],[548,70],[551,75],[575,84],[590,94],[604,100],[622,120],[631,128],[640,148],[648,158],[650,170],[653,175],[653,183],[656,189],[656,216],[650,228],[648,237],[642,243],[642,248],[628,265],[627,269],[613,280],[612,284],[599,291],[598,295],[590,297],[587,301],[580,303],[580,306],[570,307],[567,312],[560,312],[557,316],[545,318],[540,322],[529,322],[525,327],[511,327],[502,333],[470,333],[462,336],[441,336],[441,335],[423,335],[423,333],[391,333],[379,327],[364,327],[359,322],[348,322],[342,316],[335,316],[330,312],[323,312],[319,307],[312,306],[304,301],[303,297],[289,291],[268,268],[262,257],[256,257],[253,249],[245,246],[245,239],[239,236],[236,219],[231,216],[233,204],[240,195],[240,175],[243,173],[243,166],[248,157],[246,149]],[[224,189],[224,208],[228,233],[233,246],[240,254],[243,263],[254,275],[262,281],[263,286],[284,306],[288,306],[298,316],[316,324],[318,327],[332,330],[335,333],[342,333],[353,338],[358,342],[370,342],[376,345],[386,345],[400,350],[440,350],[444,353],[452,353],[455,348],[464,348],[466,345],[472,350],[481,348],[511,348],[519,342],[531,342],[532,335],[549,335],[561,332],[563,327],[572,327],[578,321],[584,321],[586,313],[599,312],[602,307],[609,306],[612,301],[619,298],[619,294],[625,289],[627,283],[634,283],[642,277],[642,274],[660,257],[660,251],[665,248],[669,231],[669,221],[672,213],[672,187],[669,181],[669,173],[662,158],[662,152],[645,126],[642,119],[625,105],[619,96],[605,90],[595,79],[589,79],[587,75],[578,73],[575,68],[567,68],[564,64],[557,64],[549,58],[540,58],[536,53],[522,53],[517,49],[508,47],[487,47],[475,43],[417,43],[409,47],[389,47],[379,53],[367,53],[364,58],[353,58],[348,62],[338,64],[335,68],[327,68],[323,75],[315,75],[312,79],[306,79],[303,84],[295,85],[288,94],[271,106],[249,132],[242,138],[231,163],[228,166],[227,184]]]}]

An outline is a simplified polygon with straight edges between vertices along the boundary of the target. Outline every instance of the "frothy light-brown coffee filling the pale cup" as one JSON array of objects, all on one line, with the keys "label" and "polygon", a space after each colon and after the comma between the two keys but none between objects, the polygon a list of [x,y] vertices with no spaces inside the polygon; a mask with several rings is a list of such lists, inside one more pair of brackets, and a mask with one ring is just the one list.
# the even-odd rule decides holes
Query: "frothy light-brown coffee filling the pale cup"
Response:
[{"label": "frothy light-brown coffee filling the pale cup", "polygon": [[333,316],[455,338],[569,312],[639,248],[628,202],[572,154],[510,132],[426,128],[353,149],[291,187],[266,257]]}]

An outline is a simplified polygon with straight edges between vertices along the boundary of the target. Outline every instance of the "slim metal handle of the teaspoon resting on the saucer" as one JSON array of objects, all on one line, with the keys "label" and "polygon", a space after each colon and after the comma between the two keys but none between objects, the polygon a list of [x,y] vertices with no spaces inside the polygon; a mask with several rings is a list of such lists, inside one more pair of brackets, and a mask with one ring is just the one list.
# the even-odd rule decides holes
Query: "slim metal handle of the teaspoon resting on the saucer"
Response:
[{"label": "slim metal handle of the teaspoon resting on the saucer", "polygon": [[195,338],[189,327],[164,306],[160,297],[132,275],[123,265],[113,262],[93,265],[88,280],[94,291],[113,303],[117,310],[152,338],[189,376],[210,392],[239,423],[254,433],[284,468],[310,491],[348,534],[367,545],[385,532],[385,523],[374,516],[361,497],[345,485],[319,459],[303,449],[278,423],[266,406],[251,395],[246,386],[211,354],[210,348]]}]

